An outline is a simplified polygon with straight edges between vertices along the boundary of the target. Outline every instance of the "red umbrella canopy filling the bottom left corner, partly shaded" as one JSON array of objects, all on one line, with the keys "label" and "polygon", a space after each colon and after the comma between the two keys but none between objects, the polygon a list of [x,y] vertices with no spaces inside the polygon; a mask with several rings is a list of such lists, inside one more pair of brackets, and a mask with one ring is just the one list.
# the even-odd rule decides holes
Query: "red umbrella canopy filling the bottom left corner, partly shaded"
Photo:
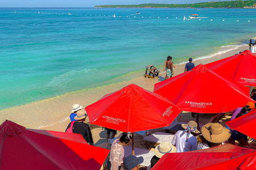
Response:
[{"label": "red umbrella canopy filling the bottom left corner, partly shaded", "polygon": [[0,169],[100,169],[109,150],[88,145],[81,134],[0,126]]}]

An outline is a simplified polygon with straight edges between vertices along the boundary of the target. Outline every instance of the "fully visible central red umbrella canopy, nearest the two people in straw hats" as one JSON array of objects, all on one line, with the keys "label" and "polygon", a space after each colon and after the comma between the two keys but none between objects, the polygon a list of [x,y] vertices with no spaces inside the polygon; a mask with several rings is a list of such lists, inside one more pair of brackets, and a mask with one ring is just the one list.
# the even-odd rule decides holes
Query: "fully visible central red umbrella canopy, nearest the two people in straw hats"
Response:
[{"label": "fully visible central red umbrella canopy, nearest the two people in straw hats", "polygon": [[169,126],[182,112],[168,99],[130,84],[85,107],[91,124],[122,132]]}]

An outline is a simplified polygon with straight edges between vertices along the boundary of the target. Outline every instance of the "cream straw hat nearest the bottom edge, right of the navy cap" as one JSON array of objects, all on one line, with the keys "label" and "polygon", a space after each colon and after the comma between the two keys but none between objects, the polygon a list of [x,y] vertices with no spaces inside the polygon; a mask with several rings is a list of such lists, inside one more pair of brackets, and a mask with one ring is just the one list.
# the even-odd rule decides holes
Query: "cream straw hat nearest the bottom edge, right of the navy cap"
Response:
[{"label": "cream straw hat nearest the bottom edge, right of the navy cap", "polygon": [[169,142],[162,142],[155,148],[155,156],[161,158],[166,153],[176,152],[177,148]]}]

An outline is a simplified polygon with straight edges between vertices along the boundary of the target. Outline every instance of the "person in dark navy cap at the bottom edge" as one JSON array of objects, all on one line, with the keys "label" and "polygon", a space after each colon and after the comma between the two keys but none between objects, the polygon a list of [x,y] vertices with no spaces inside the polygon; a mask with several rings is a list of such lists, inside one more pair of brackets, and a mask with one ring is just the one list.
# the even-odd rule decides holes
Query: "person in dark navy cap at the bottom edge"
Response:
[{"label": "person in dark navy cap at the bottom edge", "polygon": [[134,155],[127,156],[124,159],[124,164],[121,170],[139,170],[139,165],[144,161],[143,157],[136,157]]}]

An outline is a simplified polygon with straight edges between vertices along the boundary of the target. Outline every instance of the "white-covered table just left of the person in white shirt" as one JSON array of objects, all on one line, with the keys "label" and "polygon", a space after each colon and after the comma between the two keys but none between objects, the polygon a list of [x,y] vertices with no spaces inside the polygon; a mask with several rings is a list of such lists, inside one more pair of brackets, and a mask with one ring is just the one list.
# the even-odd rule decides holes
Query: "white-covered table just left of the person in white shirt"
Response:
[{"label": "white-covered table just left of the person in white shirt", "polygon": [[155,142],[155,143],[162,143],[162,142],[169,142],[172,143],[172,139],[174,134],[164,133],[164,132],[156,132],[149,135],[146,138],[143,138],[145,141]]}]

